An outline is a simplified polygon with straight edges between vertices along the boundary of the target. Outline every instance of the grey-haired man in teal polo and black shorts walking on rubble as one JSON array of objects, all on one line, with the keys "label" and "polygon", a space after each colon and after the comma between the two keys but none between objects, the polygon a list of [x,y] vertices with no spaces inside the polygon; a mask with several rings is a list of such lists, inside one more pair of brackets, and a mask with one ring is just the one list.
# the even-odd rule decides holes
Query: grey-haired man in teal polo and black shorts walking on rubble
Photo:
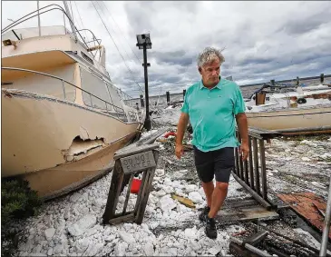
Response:
[{"label": "grey-haired man in teal polo and black shorts walking on rubble", "polygon": [[239,86],[219,76],[223,62],[224,57],[216,48],[207,47],[199,54],[201,81],[191,85],[185,94],[175,150],[180,159],[182,139],[190,120],[194,161],[207,199],[199,218],[206,222],[206,235],[212,239],[217,238],[214,217],[228,193],[229,176],[235,163],[234,148],[240,145],[235,133],[236,122],[242,138],[239,153],[243,160],[247,160],[249,151],[245,103]]}]

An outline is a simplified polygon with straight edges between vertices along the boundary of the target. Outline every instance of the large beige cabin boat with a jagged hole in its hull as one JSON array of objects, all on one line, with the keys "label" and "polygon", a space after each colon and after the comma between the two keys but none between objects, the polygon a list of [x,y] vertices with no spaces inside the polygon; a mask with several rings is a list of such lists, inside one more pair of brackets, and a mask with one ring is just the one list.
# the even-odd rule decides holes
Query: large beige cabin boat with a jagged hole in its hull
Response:
[{"label": "large beige cabin boat with a jagged hole in its hull", "polygon": [[[65,2],[64,2],[65,5]],[[60,5],[2,30],[2,177],[23,177],[44,198],[107,173],[115,151],[141,133],[144,112],[112,84],[101,40],[87,42]],[[71,25],[15,28],[60,11]]]}]

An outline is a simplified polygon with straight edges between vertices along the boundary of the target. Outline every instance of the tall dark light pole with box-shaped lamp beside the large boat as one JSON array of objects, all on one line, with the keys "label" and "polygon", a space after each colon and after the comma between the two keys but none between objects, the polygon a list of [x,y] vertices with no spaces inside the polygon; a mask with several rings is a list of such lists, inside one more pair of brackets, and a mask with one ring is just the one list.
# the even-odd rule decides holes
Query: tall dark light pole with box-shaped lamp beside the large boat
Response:
[{"label": "tall dark light pole with box-shaped lamp beside the large boat", "polygon": [[144,77],[145,77],[145,100],[146,100],[146,119],[145,119],[145,128],[147,131],[151,130],[151,118],[150,118],[150,105],[149,105],[149,94],[148,94],[148,74],[147,67],[151,64],[147,63],[147,49],[151,49],[151,36],[150,34],[137,35],[137,44],[136,46],[139,49],[143,49],[143,68],[144,68]]}]

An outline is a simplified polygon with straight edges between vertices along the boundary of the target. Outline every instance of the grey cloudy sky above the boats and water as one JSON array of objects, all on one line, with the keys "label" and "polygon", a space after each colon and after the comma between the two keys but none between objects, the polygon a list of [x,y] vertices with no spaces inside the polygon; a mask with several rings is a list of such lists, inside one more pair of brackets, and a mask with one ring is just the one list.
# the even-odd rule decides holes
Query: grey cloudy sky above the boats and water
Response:
[{"label": "grey cloudy sky above the boats and water", "polygon": [[[221,75],[232,75],[238,84],[331,74],[329,1],[71,3],[75,25],[102,39],[113,83],[132,96],[139,94],[136,83],[144,86],[142,50],[135,46],[136,35],[143,33],[151,34],[149,87],[154,95],[181,92],[198,81],[196,57],[206,46],[225,48]],[[40,1],[40,7],[50,4],[63,6]],[[35,8],[36,1],[2,1],[2,27]],[[41,22],[63,25],[63,15],[47,13]],[[24,26],[37,26],[37,19]]]}]

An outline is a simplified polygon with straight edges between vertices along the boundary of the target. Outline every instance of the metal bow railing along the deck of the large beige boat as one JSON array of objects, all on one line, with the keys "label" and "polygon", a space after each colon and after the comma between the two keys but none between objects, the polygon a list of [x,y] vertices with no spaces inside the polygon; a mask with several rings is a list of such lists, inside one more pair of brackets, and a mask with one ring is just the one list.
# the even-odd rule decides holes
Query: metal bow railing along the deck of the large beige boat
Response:
[{"label": "metal bow railing along the deck of the large beige boat", "polygon": [[[74,102],[75,99],[73,100],[70,100],[68,99],[67,97],[67,92],[65,90],[65,85],[64,84],[69,84],[71,86],[73,86],[75,89],[79,89],[81,90],[83,93],[85,94],[89,94],[90,96],[90,102],[91,102],[91,107],[94,108],[94,109],[98,109],[98,111],[101,111],[102,113],[106,113],[106,114],[110,114],[112,116],[116,116],[118,119],[124,121],[124,122],[127,122],[128,121],[128,117],[126,116],[125,112],[124,112],[124,109],[122,107],[119,107],[119,106],[116,106],[115,104],[111,104],[105,100],[103,100],[102,98],[96,96],[95,94],[92,94],[86,90],[84,90],[83,88],[81,87],[78,87],[76,86],[75,84],[73,83],[70,83],[69,81],[61,78],[61,77],[58,77],[58,76],[55,76],[53,74],[45,74],[45,73],[42,73],[42,72],[37,72],[37,71],[33,71],[33,70],[28,70],[28,69],[22,69],[22,68],[15,68],[15,67],[1,67],[2,70],[7,70],[7,71],[16,71],[16,72],[25,72],[25,73],[32,73],[32,74],[40,74],[40,75],[44,75],[44,76],[47,76],[47,77],[51,77],[51,78],[54,78],[56,80],[59,80],[62,82],[62,88],[63,88],[63,100],[65,101],[70,101],[70,102]],[[6,85],[6,84],[13,84],[11,82],[4,82],[2,81],[1,85]],[[100,101],[102,101],[104,104],[105,104],[105,109],[101,109],[100,106],[97,106],[97,105],[93,105],[93,101],[92,101],[92,98],[96,98]],[[111,108],[109,108],[108,106],[111,105],[113,110],[115,111],[115,113],[111,112]],[[89,106],[89,105],[86,105],[86,106]],[[93,107],[93,106],[97,106],[97,107]],[[130,116],[130,121],[131,122],[137,122],[139,119],[138,119],[138,114],[136,113],[133,113],[132,111],[128,111],[128,114]]]}]

